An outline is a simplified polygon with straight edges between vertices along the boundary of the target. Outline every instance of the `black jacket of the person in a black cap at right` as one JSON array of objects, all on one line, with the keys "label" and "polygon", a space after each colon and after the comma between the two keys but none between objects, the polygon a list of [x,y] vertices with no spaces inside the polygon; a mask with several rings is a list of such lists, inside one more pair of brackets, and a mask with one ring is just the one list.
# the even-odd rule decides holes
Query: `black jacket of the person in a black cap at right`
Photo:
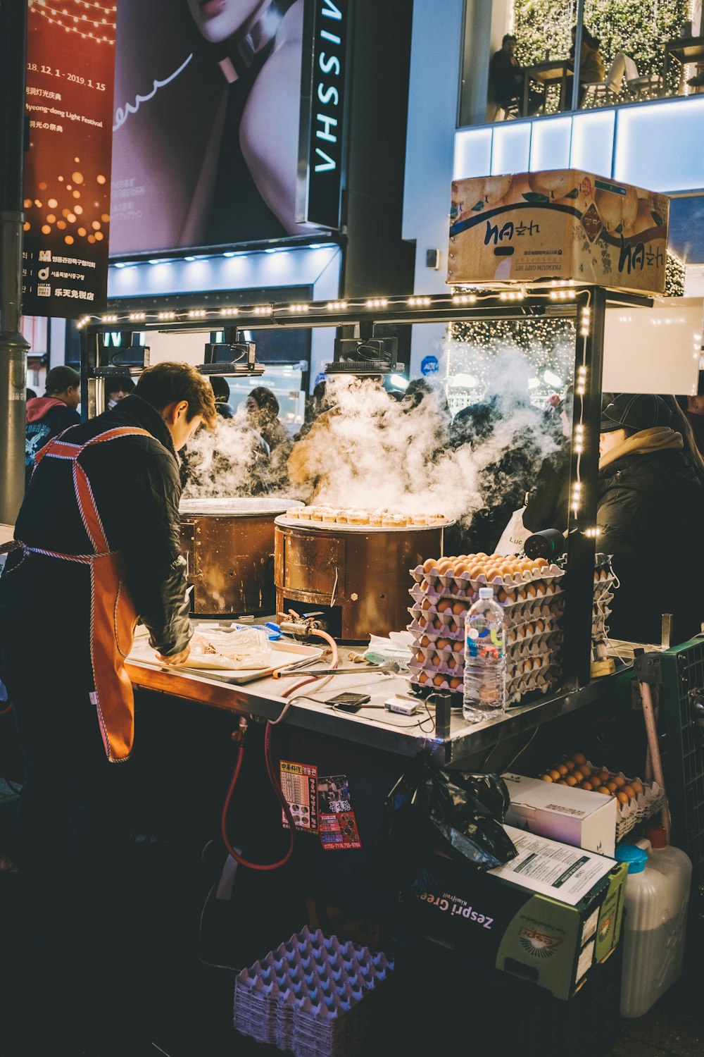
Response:
[{"label": "black jacket of the person in a black cap at right", "polygon": [[674,616],[674,643],[704,619],[701,559],[704,494],[681,451],[629,453],[598,475],[597,549],[621,580],[609,617],[612,637],[659,643],[661,615]]}]

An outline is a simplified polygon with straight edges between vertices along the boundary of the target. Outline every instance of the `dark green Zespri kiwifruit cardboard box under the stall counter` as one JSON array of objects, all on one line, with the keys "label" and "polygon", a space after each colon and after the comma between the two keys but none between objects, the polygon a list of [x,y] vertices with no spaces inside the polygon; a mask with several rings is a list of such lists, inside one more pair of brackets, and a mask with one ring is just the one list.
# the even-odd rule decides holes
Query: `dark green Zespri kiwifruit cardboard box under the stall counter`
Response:
[{"label": "dark green Zespri kiwifruit cardboard box under the stall counter", "polygon": [[569,999],[619,942],[626,864],[506,830],[518,855],[488,873],[432,856],[403,893],[401,926]]}]

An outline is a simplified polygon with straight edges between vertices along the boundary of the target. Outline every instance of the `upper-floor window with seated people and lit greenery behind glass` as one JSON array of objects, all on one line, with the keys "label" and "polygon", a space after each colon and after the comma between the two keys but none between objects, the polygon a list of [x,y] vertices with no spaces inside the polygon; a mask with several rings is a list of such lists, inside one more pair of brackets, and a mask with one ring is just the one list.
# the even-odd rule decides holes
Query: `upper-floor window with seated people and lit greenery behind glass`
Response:
[{"label": "upper-floor window with seated people and lit greenery behind glass", "polygon": [[[460,127],[572,109],[576,8],[467,0]],[[582,33],[578,109],[704,92],[702,0],[585,0]]]}]

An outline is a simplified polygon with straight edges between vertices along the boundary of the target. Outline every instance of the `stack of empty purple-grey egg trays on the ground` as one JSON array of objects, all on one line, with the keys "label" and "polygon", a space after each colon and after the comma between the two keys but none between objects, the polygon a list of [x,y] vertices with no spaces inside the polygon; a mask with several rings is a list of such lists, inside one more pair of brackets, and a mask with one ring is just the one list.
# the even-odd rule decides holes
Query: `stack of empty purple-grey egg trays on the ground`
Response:
[{"label": "stack of empty purple-grey egg trays on the ground", "polygon": [[305,927],[240,972],[234,1027],[297,1057],[346,1057],[370,1044],[369,999],[393,969],[383,952]]}]

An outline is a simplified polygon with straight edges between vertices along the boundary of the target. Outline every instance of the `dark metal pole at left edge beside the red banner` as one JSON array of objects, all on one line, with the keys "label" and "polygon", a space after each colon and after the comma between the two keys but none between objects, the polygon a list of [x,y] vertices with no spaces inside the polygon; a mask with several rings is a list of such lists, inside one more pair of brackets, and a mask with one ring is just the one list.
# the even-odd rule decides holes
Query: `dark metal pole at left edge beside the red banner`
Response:
[{"label": "dark metal pole at left edge beside the red banner", "polygon": [[27,4],[0,0],[0,521],[24,496],[28,341],[20,332]]}]

